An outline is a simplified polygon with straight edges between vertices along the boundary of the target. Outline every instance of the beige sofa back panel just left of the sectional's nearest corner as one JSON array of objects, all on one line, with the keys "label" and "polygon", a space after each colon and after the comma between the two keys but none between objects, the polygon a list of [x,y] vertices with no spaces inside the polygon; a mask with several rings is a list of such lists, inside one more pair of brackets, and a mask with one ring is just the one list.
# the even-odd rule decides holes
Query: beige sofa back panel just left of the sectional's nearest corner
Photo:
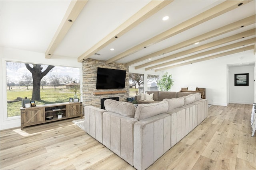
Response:
[{"label": "beige sofa back panel just left of the sectional's nearest corner", "polygon": [[137,119],[103,113],[103,145],[133,166],[133,126]]}]

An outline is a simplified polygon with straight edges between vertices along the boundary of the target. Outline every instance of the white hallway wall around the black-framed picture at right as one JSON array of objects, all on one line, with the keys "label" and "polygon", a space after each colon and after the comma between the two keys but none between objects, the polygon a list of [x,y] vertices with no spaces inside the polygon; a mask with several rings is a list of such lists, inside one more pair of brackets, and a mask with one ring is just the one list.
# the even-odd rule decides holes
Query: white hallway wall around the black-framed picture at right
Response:
[{"label": "white hallway wall around the black-framed picture at right", "polygon": [[[249,86],[235,86],[234,74],[249,73]],[[254,66],[229,68],[229,102],[252,104],[254,102]]]}]

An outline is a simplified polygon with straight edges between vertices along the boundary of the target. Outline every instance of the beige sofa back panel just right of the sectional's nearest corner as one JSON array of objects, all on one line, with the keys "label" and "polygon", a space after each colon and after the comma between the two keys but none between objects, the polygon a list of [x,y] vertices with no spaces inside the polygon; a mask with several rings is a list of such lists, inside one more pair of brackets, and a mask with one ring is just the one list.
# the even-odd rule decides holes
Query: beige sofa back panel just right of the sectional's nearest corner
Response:
[{"label": "beige sofa back panel just right of the sectional's nearest corner", "polygon": [[146,169],[171,148],[171,118],[161,113],[134,123],[134,168]]}]

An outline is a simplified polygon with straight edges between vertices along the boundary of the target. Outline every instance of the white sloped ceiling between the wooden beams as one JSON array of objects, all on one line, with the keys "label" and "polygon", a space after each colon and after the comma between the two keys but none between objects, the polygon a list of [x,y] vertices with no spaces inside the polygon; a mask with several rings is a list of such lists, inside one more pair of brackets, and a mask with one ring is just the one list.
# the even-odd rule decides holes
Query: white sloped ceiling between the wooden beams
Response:
[{"label": "white sloped ceiling between the wooden beams", "polygon": [[[158,1],[160,2],[160,1]],[[54,56],[64,56],[64,57],[74,57],[78,58],[84,53],[90,51],[90,49],[98,49],[95,53],[101,55],[90,55],[82,56],[83,59],[92,58],[104,61],[112,60],[112,57],[122,54],[129,49],[132,49],[131,53],[128,53],[126,57],[117,59],[113,62],[124,63],[126,65],[138,66],[142,64],[147,64],[148,62],[156,61],[163,57],[169,55],[174,55],[188,49],[193,49],[195,47],[200,47],[206,45],[213,41],[224,39],[250,29],[255,29],[255,19],[253,23],[245,25],[244,27],[238,27],[232,31],[227,31],[221,35],[214,36],[212,38],[201,41],[198,45],[186,45],[178,50],[172,50],[169,53],[164,53],[164,55],[152,56],[152,60],[142,60],[134,64],[129,64],[130,62],[140,59],[156,51],[160,51],[167,47],[177,45],[179,43],[184,43],[188,39],[194,37],[199,37],[204,33],[208,33],[225,25],[234,23],[236,21],[242,20],[244,18],[255,15],[255,0],[253,1],[242,1],[241,6],[234,7],[232,10],[227,10],[223,14],[214,16],[206,21],[195,24],[189,29],[185,29],[180,33],[175,33],[169,38],[157,40],[160,33],[167,31],[169,29],[174,29],[174,27],[181,27],[182,24],[189,26],[188,20],[195,18],[202,12],[206,12],[214,6],[220,5],[225,1],[220,0],[175,0],[169,1],[164,8],[160,9],[158,12],[149,16],[147,19],[142,19],[136,26],[132,29],[125,31],[122,36],[114,39],[114,41],[106,44],[105,47],[97,46],[99,41],[102,41],[110,33],[118,33],[116,28],[120,27],[121,24],[127,23],[127,20],[138,14],[138,12],[143,12],[150,4],[150,1],[146,0],[89,0],[85,5],[76,20],[74,20],[73,25],[70,27],[69,31],[65,34],[62,41],[58,44],[51,58]],[[236,1],[240,3],[240,1]],[[23,49],[28,51],[35,51],[40,53],[46,53],[46,50],[50,46],[54,34],[56,33],[68,7],[70,5],[69,0],[18,0],[18,1],[0,1],[0,36],[1,36],[1,46],[11,47],[15,49]],[[169,16],[169,20],[163,21],[164,16]],[[241,25],[242,26],[242,25]],[[145,41],[156,37],[156,42],[153,44],[146,45],[146,48],[140,48],[139,50],[133,50],[133,47],[142,43],[146,44]],[[228,43],[222,43],[220,45],[209,47],[203,50],[191,50],[189,54],[182,55],[176,59],[164,59],[164,61],[156,61],[147,66],[142,66],[142,68],[148,69],[148,67],[154,67],[158,64],[163,64],[169,61],[175,61],[184,57],[189,57],[204,51],[209,51],[211,49],[218,49],[220,47],[238,43],[240,41],[245,41],[248,39],[254,39],[254,41],[248,43],[245,46],[240,45],[239,47],[232,47],[225,51],[216,50],[213,54],[202,55],[195,59],[205,58],[211,55],[220,54],[226,51],[232,51],[234,49],[239,49],[242,47],[247,47],[250,45],[255,45],[255,30],[254,34],[245,37],[244,39],[236,39]],[[106,38],[105,38],[106,39]],[[110,51],[114,48],[114,51]],[[255,50],[250,48],[252,53]],[[47,55],[47,54],[46,54]],[[195,59],[186,60],[184,62],[193,61]],[[206,58],[205,58],[206,59]],[[184,63],[178,62],[175,64]],[[159,70],[168,66],[173,66],[175,64],[169,64],[166,66],[159,66],[152,68],[154,70]]]}]

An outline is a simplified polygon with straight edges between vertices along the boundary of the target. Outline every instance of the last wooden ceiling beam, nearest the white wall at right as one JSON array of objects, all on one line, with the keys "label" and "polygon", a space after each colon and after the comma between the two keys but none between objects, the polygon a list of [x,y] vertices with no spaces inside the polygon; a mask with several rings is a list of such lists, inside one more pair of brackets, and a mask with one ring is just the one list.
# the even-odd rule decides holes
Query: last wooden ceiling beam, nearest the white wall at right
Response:
[{"label": "last wooden ceiling beam, nearest the white wall at right", "polygon": [[178,67],[178,66],[184,66],[184,65],[188,65],[188,64],[198,63],[198,62],[206,61],[206,60],[210,60],[210,59],[216,59],[218,57],[224,57],[224,56],[227,56],[227,55],[241,53],[243,51],[248,51],[248,50],[252,50],[252,49],[254,49],[254,45],[250,45],[250,46],[243,47],[243,48],[240,48],[240,49],[236,49],[236,50],[232,50],[232,51],[228,51],[228,52],[212,55],[212,56],[209,56],[209,57],[204,57],[202,59],[188,61],[186,63],[176,64],[176,65],[168,66],[168,67],[164,67],[164,68],[159,68],[159,69],[156,69],[155,72],[163,71],[163,70],[168,70],[168,69],[171,69],[171,68],[174,68],[174,67]]}]

